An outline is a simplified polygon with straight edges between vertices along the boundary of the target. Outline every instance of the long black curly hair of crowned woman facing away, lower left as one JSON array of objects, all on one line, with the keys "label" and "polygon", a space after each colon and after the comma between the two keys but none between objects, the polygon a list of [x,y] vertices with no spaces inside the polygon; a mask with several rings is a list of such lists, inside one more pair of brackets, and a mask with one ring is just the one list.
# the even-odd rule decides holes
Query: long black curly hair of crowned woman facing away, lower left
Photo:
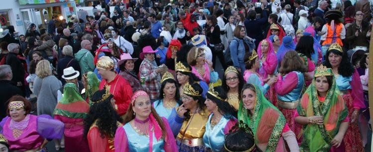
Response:
[{"label": "long black curly hair of crowned woman facing away, lower left", "polygon": [[[116,113],[111,105],[111,98],[113,95],[110,94],[108,98],[102,102],[97,102],[102,99],[102,95],[105,94],[106,90],[98,90],[92,96],[92,106],[86,119],[84,119],[84,135],[87,137],[88,132],[95,123],[102,138],[108,136],[113,138],[115,131],[118,128],[117,122],[123,123],[123,119]],[[97,102],[97,103],[95,103]]]}]

